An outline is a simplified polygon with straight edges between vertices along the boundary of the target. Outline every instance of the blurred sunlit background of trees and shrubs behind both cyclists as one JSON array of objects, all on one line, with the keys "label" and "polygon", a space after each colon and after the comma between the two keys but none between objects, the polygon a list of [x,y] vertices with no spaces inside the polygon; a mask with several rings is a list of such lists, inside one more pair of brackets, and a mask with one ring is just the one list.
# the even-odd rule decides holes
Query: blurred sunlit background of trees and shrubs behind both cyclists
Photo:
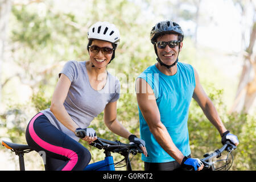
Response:
[{"label": "blurred sunlit background of trees and shrubs behind both cyclists", "polygon": [[[114,23],[121,32],[108,70],[122,85],[118,119],[139,136],[134,80],[156,63],[151,28],[171,19],[185,34],[179,60],[199,72],[224,125],[240,139],[231,169],[255,170],[255,8],[250,0],[0,0],[0,139],[26,143],[27,123],[49,107],[65,62],[88,60],[86,34],[97,21]],[[92,122],[97,135],[128,142],[112,134],[102,120],[103,113]],[[221,147],[220,135],[195,101],[188,125],[193,157]],[[81,143],[91,151],[92,162],[104,159],[102,151]],[[36,152],[24,158],[27,170],[44,169]],[[114,154],[114,160],[121,159]],[[133,169],[144,169],[141,155],[131,163]],[[18,169],[18,157],[1,146],[0,170]]]}]

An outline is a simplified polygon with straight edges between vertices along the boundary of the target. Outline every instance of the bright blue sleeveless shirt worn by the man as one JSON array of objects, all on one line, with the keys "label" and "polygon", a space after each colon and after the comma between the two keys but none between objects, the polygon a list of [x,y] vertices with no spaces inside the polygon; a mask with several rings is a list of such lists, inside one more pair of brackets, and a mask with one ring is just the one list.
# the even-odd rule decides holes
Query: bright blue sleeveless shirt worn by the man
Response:
[{"label": "bright blue sleeveless shirt worn by the man", "polygon": [[[191,154],[188,136],[188,109],[196,86],[193,67],[177,63],[175,75],[167,76],[151,65],[138,78],[143,78],[151,86],[160,112],[160,119],[170,134],[174,144],[184,156]],[[148,157],[142,160],[150,163],[171,162],[172,158],[158,144],[150,132],[147,122],[139,109],[141,138],[146,142]]]}]

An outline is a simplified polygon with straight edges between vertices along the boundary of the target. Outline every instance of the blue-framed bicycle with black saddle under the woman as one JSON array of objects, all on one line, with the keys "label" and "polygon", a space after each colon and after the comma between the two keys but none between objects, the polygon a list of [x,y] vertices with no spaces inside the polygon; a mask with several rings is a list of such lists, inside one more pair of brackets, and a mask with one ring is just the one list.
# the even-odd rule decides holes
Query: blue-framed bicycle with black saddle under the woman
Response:
[{"label": "blue-framed bicycle with black saddle under the woman", "polygon": [[[137,155],[138,153],[141,154],[143,151],[141,148],[139,148],[136,144],[126,144],[121,143],[118,140],[116,141],[110,141],[102,138],[97,138],[97,140],[94,140],[94,142],[90,143],[91,146],[96,147],[98,149],[103,149],[105,154],[105,159],[91,163],[86,168],[84,168],[84,171],[115,171],[115,167],[117,164],[123,162],[125,160],[126,162],[126,169],[127,171],[132,171],[131,168],[131,160],[129,159],[129,155]],[[30,146],[27,144],[18,144],[18,143],[11,143],[6,142],[2,140],[2,146],[5,146],[6,148],[10,149],[11,151],[15,152],[15,155],[19,156],[19,168],[20,171],[25,171],[25,165],[24,165],[24,154],[34,151]],[[113,156],[111,155],[111,152],[118,153],[124,156],[121,161],[114,163]],[[121,167],[125,167],[121,166]]]}]

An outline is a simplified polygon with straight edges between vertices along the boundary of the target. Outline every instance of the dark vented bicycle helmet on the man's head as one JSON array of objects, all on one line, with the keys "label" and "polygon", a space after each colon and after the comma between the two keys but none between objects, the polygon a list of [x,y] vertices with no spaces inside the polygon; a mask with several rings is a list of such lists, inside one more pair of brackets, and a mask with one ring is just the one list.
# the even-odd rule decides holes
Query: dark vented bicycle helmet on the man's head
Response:
[{"label": "dark vented bicycle helmet on the man's head", "polygon": [[179,24],[172,22],[171,20],[165,20],[165,21],[156,23],[156,25],[152,28],[150,32],[151,43],[154,44],[156,38],[159,35],[167,34],[167,33],[178,34],[181,37],[180,42],[183,41],[184,34]]}]

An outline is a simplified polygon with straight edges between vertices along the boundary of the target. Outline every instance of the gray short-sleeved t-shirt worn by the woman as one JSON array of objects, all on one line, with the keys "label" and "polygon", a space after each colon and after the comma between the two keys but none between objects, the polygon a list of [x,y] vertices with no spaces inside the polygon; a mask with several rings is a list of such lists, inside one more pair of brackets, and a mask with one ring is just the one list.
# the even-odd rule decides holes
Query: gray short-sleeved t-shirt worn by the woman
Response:
[{"label": "gray short-sleeved t-shirt worn by the woman", "polygon": [[[81,128],[88,127],[93,118],[97,117],[109,102],[117,101],[120,93],[118,78],[110,75],[109,72],[104,88],[94,90],[90,85],[85,63],[86,61],[68,61],[59,73],[59,77],[63,73],[71,81],[64,107],[73,121]],[[55,118],[49,109],[40,112],[46,115],[57,129],[69,137],[79,140],[71,130]]]}]

